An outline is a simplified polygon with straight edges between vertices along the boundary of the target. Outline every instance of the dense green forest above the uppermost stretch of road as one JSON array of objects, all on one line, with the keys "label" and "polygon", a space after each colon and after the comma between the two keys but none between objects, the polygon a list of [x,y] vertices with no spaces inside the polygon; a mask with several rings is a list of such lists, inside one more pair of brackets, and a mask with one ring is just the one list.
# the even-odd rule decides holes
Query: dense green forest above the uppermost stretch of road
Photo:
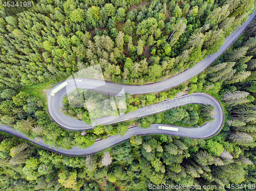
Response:
[{"label": "dense green forest above the uppermost stretch of road", "polygon": [[141,3],[42,0],[16,16],[1,6],[0,87],[54,83],[95,64],[113,82],[166,79],[217,52],[255,1]]}]

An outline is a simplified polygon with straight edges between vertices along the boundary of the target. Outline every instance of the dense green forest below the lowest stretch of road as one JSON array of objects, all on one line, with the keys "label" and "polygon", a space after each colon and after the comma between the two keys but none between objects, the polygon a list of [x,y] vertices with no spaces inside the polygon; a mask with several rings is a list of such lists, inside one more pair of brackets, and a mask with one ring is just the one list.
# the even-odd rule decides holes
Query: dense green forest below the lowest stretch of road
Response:
[{"label": "dense green forest below the lowest stretch of road", "polygon": [[251,168],[252,161],[256,162],[254,153],[248,153],[248,145],[230,141],[227,135],[222,132],[208,140],[133,136],[110,151],[87,157],[58,155],[2,136],[1,187],[114,191],[145,190],[150,184],[165,183],[217,187],[244,180],[254,183],[254,177],[246,173],[255,173]]}]

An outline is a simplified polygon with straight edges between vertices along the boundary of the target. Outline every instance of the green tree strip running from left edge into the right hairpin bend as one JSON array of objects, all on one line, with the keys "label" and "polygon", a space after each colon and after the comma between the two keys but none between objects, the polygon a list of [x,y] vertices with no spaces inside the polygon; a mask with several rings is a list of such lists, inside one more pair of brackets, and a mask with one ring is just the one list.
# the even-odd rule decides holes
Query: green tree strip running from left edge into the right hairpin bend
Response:
[{"label": "green tree strip running from left edge into the right hairpin bend", "polygon": [[[95,92],[90,93],[94,94]],[[154,97],[156,98],[156,96]],[[72,149],[74,146],[87,148],[93,145],[96,139],[106,138],[117,133],[123,136],[133,126],[148,128],[151,124],[166,123],[184,127],[198,127],[212,120],[210,115],[212,114],[212,109],[214,109],[207,105],[198,106],[197,104],[191,104],[190,106],[183,106],[163,113],[145,116],[130,122],[108,126],[98,125],[87,131],[67,131],[51,121],[45,109],[45,98],[36,91],[19,91],[17,93],[12,89],[5,89],[1,92],[0,99],[0,120],[2,124],[12,126],[15,130],[22,132],[31,139],[36,137],[43,138],[45,144],[66,149]],[[81,119],[90,124],[91,118],[87,114],[88,111],[84,108],[73,107],[73,110],[66,114],[80,119],[79,112],[83,110],[85,114],[81,115]],[[201,110],[206,112],[203,113]],[[165,120],[166,115],[169,116],[169,120]],[[177,118],[177,116],[179,117]]]}]

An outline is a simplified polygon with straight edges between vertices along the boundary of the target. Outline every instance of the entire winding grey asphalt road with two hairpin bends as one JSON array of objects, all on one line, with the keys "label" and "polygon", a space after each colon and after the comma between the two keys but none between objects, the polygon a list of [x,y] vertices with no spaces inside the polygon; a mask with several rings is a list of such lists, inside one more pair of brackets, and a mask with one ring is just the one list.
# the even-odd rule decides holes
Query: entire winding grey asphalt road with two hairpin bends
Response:
[{"label": "entire winding grey asphalt road with two hairpin bends", "polygon": [[[192,78],[195,75],[198,75],[203,71],[207,66],[209,66],[212,62],[214,62],[221,54],[225,52],[225,50],[244,32],[244,30],[249,26],[251,21],[256,16],[256,10],[253,12],[252,15],[249,16],[248,20],[243,24],[243,26],[239,27],[237,31],[231,33],[226,39],[224,44],[220,47],[220,50],[218,53],[215,53],[213,55],[208,56],[201,62],[197,63],[194,67],[187,69],[183,73],[174,76],[172,78],[169,78],[165,81],[158,82],[155,84],[148,84],[143,86],[132,86],[132,85],[120,85],[120,84],[114,84],[106,82],[106,86],[109,88],[109,92],[118,93],[123,88],[125,92],[129,92],[131,94],[141,94],[141,93],[148,93],[148,92],[157,92],[162,91],[168,88],[175,87],[190,78]],[[88,80],[88,79],[86,79]],[[83,81],[82,84],[78,84],[81,88],[90,88],[88,85],[95,84],[97,81],[95,80],[88,80],[87,83]],[[91,81],[91,82],[90,82]],[[86,87],[84,87],[86,86]],[[61,127],[70,129],[70,130],[83,130],[83,129],[90,129],[92,127],[85,126],[83,122],[78,120],[73,120],[72,118],[67,117],[66,115],[63,115],[60,111],[58,111],[58,108],[61,107],[61,101],[63,96],[67,94],[67,92],[72,91],[76,86],[67,86],[67,90],[61,90],[56,93],[55,97],[51,97],[48,93],[48,108],[49,113],[51,117],[54,119],[56,123],[58,123]],[[49,91],[50,92],[50,91]],[[179,131],[168,131],[168,130],[162,130],[158,129],[158,124],[153,124],[148,129],[142,129],[140,127],[133,127],[130,128],[126,134],[121,137],[119,135],[111,136],[107,139],[98,140],[95,142],[95,144],[89,148],[86,149],[79,149],[77,147],[72,148],[71,150],[65,150],[65,149],[55,149],[51,148],[49,145],[45,145],[44,141],[41,139],[34,139],[30,140],[34,144],[48,149],[50,151],[63,154],[63,155],[69,155],[69,156],[84,156],[84,155],[90,155],[97,153],[101,150],[104,150],[106,148],[109,148],[113,145],[119,144],[120,142],[123,142],[124,140],[129,139],[133,135],[143,135],[143,134],[170,134],[170,135],[177,135],[177,136],[187,136],[190,138],[207,138],[216,135],[222,128],[224,123],[224,116],[223,116],[223,110],[220,105],[220,103],[214,98],[209,96],[205,93],[193,93],[191,95],[182,96],[180,98],[176,98],[174,100],[168,100],[159,104],[155,104],[153,106],[148,106],[145,108],[138,109],[137,111],[130,112],[128,114],[122,115],[116,119],[113,119],[111,123],[116,123],[123,120],[129,120],[130,118],[137,118],[142,115],[150,115],[154,113],[158,113],[170,108],[190,104],[190,103],[198,103],[198,104],[211,104],[216,107],[215,111],[216,114],[213,116],[216,120],[211,123],[207,123],[199,128],[182,128],[178,127]],[[123,117],[123,118],[122,118]],[[66,121],[68,120],[68,122]],[[116,120],[116,121],[115,121]],[[81,125],[81,123],[83,125]],[[168,126],[168,125],[165,125]],[[172,127],[172,126],[170,126]],[[7,132],[9,134],[18,136],[20,138],[24,138],[29,140],[24,134],[17,132],[13,130],[10,127],[2,126],[0,125],[0,130]]]}]

